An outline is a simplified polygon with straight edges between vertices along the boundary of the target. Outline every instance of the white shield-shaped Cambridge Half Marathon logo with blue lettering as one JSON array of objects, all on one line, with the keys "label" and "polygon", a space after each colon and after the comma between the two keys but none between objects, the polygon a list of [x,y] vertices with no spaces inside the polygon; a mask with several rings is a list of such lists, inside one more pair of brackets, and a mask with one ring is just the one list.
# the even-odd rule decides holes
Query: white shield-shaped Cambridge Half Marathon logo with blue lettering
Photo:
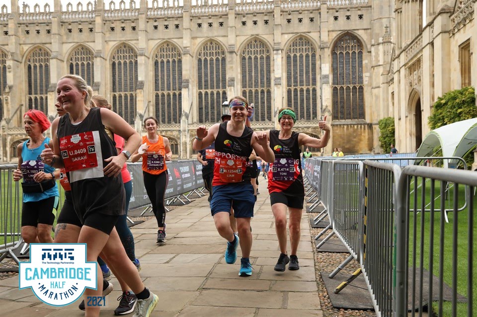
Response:
[{"label": "white shield-shaped Cambridge Half Marathon logo with blue lettering", "polygon": [[86,287],[96,289],[96,263],[86,262],[86,244],[32,243],[30,262],[20,262],[20,289],[31,287],[42,302],[65,306]]}]

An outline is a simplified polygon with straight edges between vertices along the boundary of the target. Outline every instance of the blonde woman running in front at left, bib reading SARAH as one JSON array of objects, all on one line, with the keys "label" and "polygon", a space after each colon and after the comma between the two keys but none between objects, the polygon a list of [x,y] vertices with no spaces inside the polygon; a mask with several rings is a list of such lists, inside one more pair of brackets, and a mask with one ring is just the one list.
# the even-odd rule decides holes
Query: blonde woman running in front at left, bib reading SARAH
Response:
[{"label": "blonde woman running in front at left, bib reading SARAH", "polygon": [[[46,164],[64,167],[68,173],[75,210],[83,223],[78,242],[86,243],[87,261],[96,261],[99,254],[104,254],[137,295],[136,315],[149,317],[159,299],[144,287],[114,228],[117,218],[124,213],[124,189],[119,175],[127,157],[123,153],[117,155],[105,127],[128,141],[125,149],[129,152],[139,147],[141,138],[114,112],[89,108],[90,96],[81,77],[60,78],[57,94],[68,114],[53,122],[52,130],[58,131],[53,135],[54,148],[47,147],[41,156]],[[97,272],[100,271],[97,265]],[[98,274],[97,285],[100,281]],[[86,288],[84,296],[101,296],[101,287]],[[99,316],[99,307],[86,306],[86,314]]]}]

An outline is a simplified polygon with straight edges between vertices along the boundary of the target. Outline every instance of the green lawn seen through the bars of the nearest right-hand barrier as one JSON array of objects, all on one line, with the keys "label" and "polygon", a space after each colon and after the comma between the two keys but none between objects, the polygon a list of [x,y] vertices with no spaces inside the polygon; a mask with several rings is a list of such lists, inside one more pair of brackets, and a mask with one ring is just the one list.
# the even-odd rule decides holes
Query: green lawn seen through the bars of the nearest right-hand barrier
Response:
[{"label": "green lawn seen through the bars of the nearest right-hand barrier", "polygon": [[[422,184],[422,180],[418,181],[418,184]],[[440,191],[440,182],[435,183],[435,195],[439,195]],[[412,189],[413,186],[411,186]],[[473,193],[474,196],[474,210],[473,210],[473,230],[474,230],[474,238],[471,240],[473,241],[474,246],[474,254],[473,254],[473,279],[472,281],[468,280],[467,272],[469,270],[468,267],[468,224],[469,224],[469,208],[465,208],[462,211],[449,212],[448,219],[449,223],[444,222],[444,246],[441,251],[440,246],[440,226],[441,226],[441,217],[443,217],[443,213],[440,212],[440,203],[441,198],[435,200],[435,206],[433,212],[434,214],[434,229],[431,230],[431,211],[422,212],[413,212],[414,208],[414,201],[416,201],[417,209],[422,209],[422,190],[424,190],[424,199],[425,203],[424,206],[427,205],[425,209],[430,209],[430,189],[431,183],[427,182],[425,187],[420,187],[417,190],[417,196],[414,194],[411,195],[409,207],[411,212],[409,213],[409,266],[413,264],[413,242],[416,242],[416,251],[415,251],[415,261],[416,267],[420,266],[420,256],[421,253],[423,255],[422,264],[423,267],[428,269],[429,262],[430,262],[430,245],[431,241],[433,241],[433,274],[439,277],[439,256],[443,255],[443,280],[444,282],[452,287],[452,272],[457,270],[457,292],[461,295],[467,297],[467,286],[469,283],[473,285],[473,310],[474,314],[477,313],[477,243],[476,243],[476,234],[477,234],[477,196],[475,192]],[[454,192],[455,187],[449,190],[449,194],[447,196],[445,206],[447,209],[452,208],[453,201],[454,201]],[[464,206],[465,202],[465,187],[459,186],[458,189],[458,206]],[[453,226],[457,221],[457,266],[453,267],[452,263],[452,254],[453,254]],[[423,226],[423,235],[421,235],[420,229],[421,225]],[[414,227],[416,228],[416,233],[414,235]],[[421,236],[424,240],[424,245],[421,251],[420,244],[421,244]],[[418,274],[418,271],[416,272]],[[438,294],[438,289],[433,290],[434,294]],[[452,316],[452,305],[451,302],[443,302],[442,305],[442,315],[441,316]],[[433,310],[435,316],[438,316],[439,312],[439,304],[434,302]],[[457,314],[456,316],[467,316],[467,304],[466,303],[458,303],[457,304]]]}]

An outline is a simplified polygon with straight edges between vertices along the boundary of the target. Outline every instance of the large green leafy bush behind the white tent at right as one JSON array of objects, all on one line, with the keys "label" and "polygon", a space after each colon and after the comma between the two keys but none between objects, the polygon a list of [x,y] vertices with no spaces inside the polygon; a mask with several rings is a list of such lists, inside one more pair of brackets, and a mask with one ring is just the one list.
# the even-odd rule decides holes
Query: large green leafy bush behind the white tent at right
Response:
[{"label": "large green leafy bush behind the white tent at right", "polygon": [[449,91],[437,98],[429,116],[429,127],[433,130],[454,122],[477,117],[474,87]]}]

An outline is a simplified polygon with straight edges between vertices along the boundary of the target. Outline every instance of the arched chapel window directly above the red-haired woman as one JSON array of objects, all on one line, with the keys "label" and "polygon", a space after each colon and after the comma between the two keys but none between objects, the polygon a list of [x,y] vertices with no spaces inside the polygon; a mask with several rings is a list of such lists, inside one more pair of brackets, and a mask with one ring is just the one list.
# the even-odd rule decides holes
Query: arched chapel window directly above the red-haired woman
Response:
[{"label": "arched chapel window directly above the red-haired woman", "polygon": [[31,52],[26,60],[28,109],[48,114],[48,85],[50,84],[50,53],[43,48]]}]

